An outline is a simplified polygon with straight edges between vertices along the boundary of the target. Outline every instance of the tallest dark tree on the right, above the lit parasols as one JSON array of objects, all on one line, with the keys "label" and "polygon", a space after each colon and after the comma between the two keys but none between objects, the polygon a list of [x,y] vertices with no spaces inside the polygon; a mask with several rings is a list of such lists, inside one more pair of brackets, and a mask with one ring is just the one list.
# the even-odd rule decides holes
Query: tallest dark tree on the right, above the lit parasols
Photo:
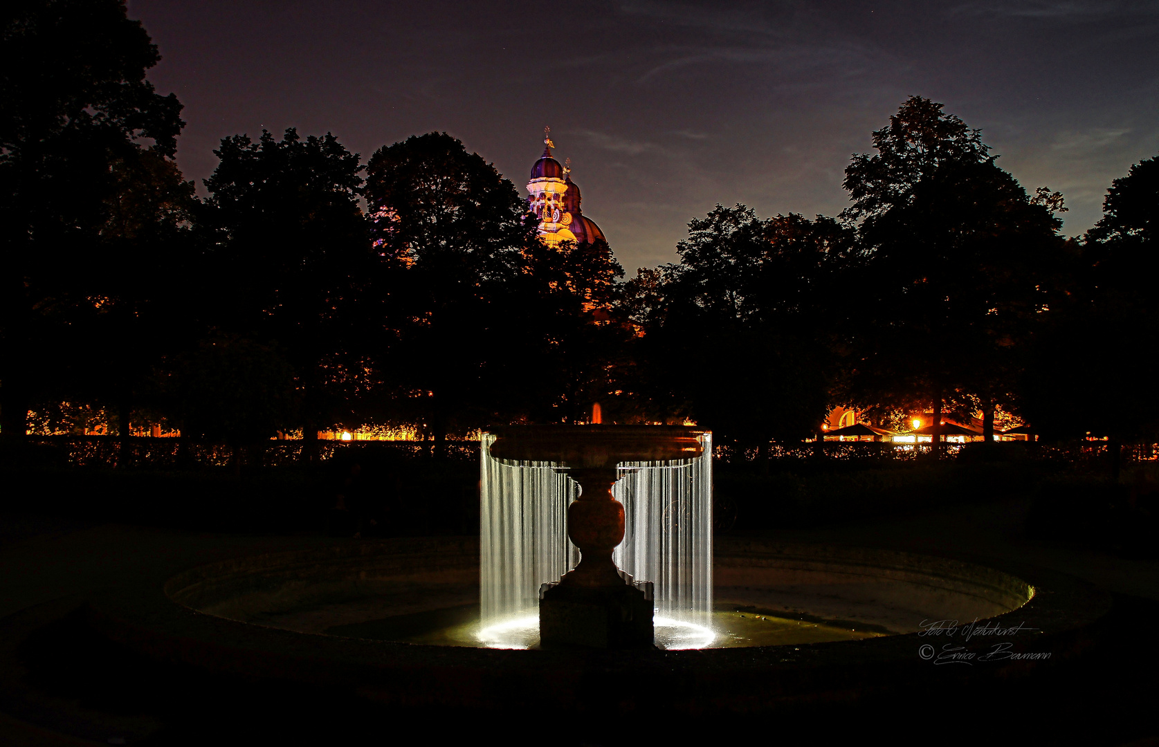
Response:
[{"label": "tallest dark tree on the right, above the lit parasols", "polygon": [[981,408],[989,435],[1047,303],[1060,224],[941,104],[911,98],[874,141],[884,149],[846,171],[866,254],[846,396],[932,405],[935,429],[947,402]]}]

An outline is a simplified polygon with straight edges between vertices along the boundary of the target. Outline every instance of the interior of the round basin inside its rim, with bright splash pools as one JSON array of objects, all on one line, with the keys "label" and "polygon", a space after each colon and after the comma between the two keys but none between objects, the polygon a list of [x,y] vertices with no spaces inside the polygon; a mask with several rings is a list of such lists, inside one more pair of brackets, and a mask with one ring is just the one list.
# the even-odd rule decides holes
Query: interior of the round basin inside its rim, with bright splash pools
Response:
[{"label": "interior of the round basin inside its rim, with bright splash pools", "polygon": [[[478,624],[474,543],[446,542],[433,554],[393,550],[391,544],[363,544],[241,558],[174,577],[166,591],[175,602],[204,614],[300,634],[537,647],[534,618]],[[1027,581],[1003,571],[884,550],[758,542],[731,545],[714,565],[713,635],[706,637],[699,624],[694,628],[701,630],[693,631],[684,621],[663,621],[659,647],[914,634],[924,622],[996,617],[1034,594]]]}]

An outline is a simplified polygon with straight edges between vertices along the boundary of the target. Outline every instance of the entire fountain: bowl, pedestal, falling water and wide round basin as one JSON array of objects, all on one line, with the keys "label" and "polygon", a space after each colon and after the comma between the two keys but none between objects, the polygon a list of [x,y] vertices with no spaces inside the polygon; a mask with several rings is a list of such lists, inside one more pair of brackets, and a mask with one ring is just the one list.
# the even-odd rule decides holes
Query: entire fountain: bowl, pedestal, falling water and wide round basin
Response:
[{"label": "entire fountain: bowl, pedestal, falling water and wide round basin", "polygon": [[[374,708],[608,719],[904,695],[942,672],[921,658],[926,621],[1025,623],[1035,632],[1013,636],[1014,651],[1060,656],[1109,608],[1020,565],[714,545],[712,439],[693,429],[496,427],[481,452],[478,539],[298,537],[223,545],[197,565],[151,558],[141,579],[94,595],[86,620],[158,661]],[[614,697],[592,687],[610,681]]]}]

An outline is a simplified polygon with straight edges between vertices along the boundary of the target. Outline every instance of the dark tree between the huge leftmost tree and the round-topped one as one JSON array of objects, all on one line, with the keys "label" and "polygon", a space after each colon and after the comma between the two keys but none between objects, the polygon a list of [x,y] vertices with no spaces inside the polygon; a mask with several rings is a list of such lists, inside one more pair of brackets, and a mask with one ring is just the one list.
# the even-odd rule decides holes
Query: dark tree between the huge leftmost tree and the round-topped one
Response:
[{"label": "dark tree between the huge leftmost tree and the round-topped one", "polygon": [[282,140],[263,132],[221,141],[205,181],[214,232],[206,321],[277,344],[298,375],[301,426],[312,453],[318,430],[349,416],[369,385],[377,314],[362,308],[374,263],[358,205],[358,155],[327,133]]}]

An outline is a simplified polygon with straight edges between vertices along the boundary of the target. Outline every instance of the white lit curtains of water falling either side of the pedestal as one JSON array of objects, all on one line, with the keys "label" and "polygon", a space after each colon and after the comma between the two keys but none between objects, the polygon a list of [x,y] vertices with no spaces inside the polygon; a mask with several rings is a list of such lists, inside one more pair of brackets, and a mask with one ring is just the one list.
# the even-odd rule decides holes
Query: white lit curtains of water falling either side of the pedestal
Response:
[{"label": "white lit curtains of water falling either side of the pedestal", "polygon": [[[625,511],[624,542],[613,559],[635,580],[655,584],[658,644],[662,620],[685,631],[676,637],[713,635],[712,435],[699,440],[704,456],[694,460],[620,464],[622,477],[612,489]],[[480,624],[486,631],[535,620],[538,639],[540,585],[580,562],[567,534],[567,507],[580,486],[552,462],[491,459],[494,441],[483,434]],[[698,627],[704,632],[687,632]]]}]

